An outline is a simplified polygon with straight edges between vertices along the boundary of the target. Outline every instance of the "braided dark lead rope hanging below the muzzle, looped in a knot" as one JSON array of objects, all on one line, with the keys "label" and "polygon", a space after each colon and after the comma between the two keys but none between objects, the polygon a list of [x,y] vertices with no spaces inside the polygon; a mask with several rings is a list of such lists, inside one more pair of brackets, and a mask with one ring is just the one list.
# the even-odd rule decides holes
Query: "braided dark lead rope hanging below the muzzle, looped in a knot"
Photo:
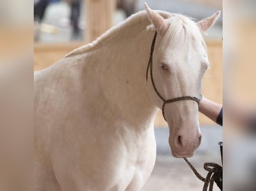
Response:
[{"label": "braided dark lead rope hanging below the muzzle, looped in a knot", "polygon": [[[222,167],[219,164],[214,163],[214,162],[206,162],[204,164],[204,169],[208,171],[208,174],[207,174],[206,178],[204,178],[186,158],[184,158],[184,160],[186,161],[188,166],[192,169],[194,174],[200,180],[202,180],[204,182],[203,191],[207,191],[209,184],[210,184],[209,191],[213,191],[214,175],[215,175],[215,173],[218,173],[222,169]],[[210,168],[210,167],[212,167],[212,168]]]}]

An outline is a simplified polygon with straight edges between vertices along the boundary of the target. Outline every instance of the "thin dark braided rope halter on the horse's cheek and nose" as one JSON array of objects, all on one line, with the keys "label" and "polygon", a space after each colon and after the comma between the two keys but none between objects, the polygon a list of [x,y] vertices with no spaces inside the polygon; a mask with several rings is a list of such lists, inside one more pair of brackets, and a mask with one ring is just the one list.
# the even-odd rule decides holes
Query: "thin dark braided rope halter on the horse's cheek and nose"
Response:
[{"label": "thin dark braided rope halter on the horse's cheek and nose", "polygon": [[172,99],[168,99],[168,100],[165,100],[160,94],[159,92],[156,90],[156,87],[155,87],[155,83],[154,83],[154,80],[153,80],[153,74],[152,74],[152,58],[153,58],[153,52],[154,52],[154,47],[155,47],[155,39],[156,39],[156,36],[157,36],[157,32],[155,32],[155,36],[153,38],[153,41],[152,41],[152,44],[151,44],[151,50],[150,50],[150,56],[149,56],[149,61],[148,61],[148,66],[147,66],[147,73],[146,73],[146,80],[148,79],[148,69],[149,69],[149,66],[150,66],[150,78],[151,78],[151,82],[152,82],[152,85],[153,85],[153,88],[155,90],[155,93],[158,95],[158,97],[160,97],[160,99],[162,99],[163,101],[163,106],[162,106],[162,114],[163,114],[163,118],[164,120],[166,121],[165,119],[165,116],[164,116],[164,106],[166,103],[171,103],[171,102],[174,102],[174,101],[180,101],[180,100],[186,100],[186,99],[191,99],[191,100],[194,100],[196,102],[200,102],[201,99],[197,98],[197,97],[191,97],[191,96],[181,96],[181,97],[176,97],[176,98],[172,98]]}]

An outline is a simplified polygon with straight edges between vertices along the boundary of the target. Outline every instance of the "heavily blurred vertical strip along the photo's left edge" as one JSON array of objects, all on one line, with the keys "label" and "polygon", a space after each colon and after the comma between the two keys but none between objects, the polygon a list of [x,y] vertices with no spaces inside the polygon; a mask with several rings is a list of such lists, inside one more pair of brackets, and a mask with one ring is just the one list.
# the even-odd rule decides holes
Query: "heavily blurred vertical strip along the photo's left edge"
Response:
[{"label": "heavily blurred vertical strip along the photo's left edge", "polygon": [[0,1],[0,190],[33,174],[33,3]]}]

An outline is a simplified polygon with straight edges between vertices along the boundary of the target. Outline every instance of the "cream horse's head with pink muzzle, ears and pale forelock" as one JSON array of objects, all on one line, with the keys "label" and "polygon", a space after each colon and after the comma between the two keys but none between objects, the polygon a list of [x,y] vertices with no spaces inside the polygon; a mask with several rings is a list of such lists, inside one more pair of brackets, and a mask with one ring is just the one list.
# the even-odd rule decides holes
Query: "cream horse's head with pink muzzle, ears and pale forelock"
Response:
[{"label": "cream horse's head with pink muzzle, ears and pale forelock", "polygon": [[[163,18],[146,3],[145,9],[151,21],[148,30],[157,32],[152,53],[153,82],[147,80],[151,101],[162,109],[163,100],[188,95],[199,99],[203,75],[209,68],[203,34],[216,22],[220,11],[195,22],[172,13]],[[164,106],[170,132],[169,145],[174,157],[192,157],[201,143],[198,102],[183,99]]]}]

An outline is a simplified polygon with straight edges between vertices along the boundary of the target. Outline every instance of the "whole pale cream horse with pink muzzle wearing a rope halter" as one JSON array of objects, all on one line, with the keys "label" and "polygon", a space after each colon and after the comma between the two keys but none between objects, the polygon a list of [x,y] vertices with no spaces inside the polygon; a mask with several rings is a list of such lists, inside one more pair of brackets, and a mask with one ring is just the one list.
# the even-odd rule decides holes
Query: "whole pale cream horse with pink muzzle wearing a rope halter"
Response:
[{"label": "whole pale cream horse with pink muzzle wearing a rope halter", "polygon": [[[36,191],[136,191],[147,181],[156,157],[153,121],[163,104],[146,80],[155,31],[159,94],[200,96],[209,65],[202,34],[220,12],[196,23],[145,8],[35,72]],[[193,156],[201,137],[198,103],[176,101],[164,111],[172,155]]]}]

